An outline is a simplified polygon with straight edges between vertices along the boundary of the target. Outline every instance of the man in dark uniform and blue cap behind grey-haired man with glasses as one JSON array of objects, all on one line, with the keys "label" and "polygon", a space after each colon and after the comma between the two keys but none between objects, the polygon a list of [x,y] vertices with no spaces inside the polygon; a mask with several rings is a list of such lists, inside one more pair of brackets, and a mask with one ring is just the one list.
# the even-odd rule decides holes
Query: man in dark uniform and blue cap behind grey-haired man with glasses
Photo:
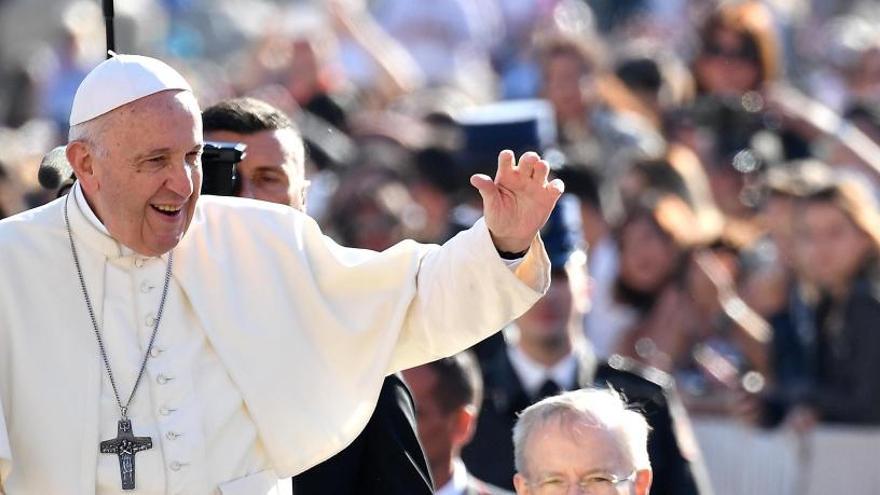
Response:
[{"label": "man in dark uniform and blue cap behind grey-haired man with glasses", "polygon": [[542,232],[553,265],[550,290],[505,330],[505,347],[481,363],[483,405],[476,433],[462,458],[478,478],[512,489],[511,431],[517,414],[562,391],[610,386],[642,411],[651,426],[651,493],[710,493],[672,378],[621,356],[598,362],[583,337],[588,303],[586,255],[579,249],[579,229],[572,213],[577,210],[570,202],[563,198]]}]

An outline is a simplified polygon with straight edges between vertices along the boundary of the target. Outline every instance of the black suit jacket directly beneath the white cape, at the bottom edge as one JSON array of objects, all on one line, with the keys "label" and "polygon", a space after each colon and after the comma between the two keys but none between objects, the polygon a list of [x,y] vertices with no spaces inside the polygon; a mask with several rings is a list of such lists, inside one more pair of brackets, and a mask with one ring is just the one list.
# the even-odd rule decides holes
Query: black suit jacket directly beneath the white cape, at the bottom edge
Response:
[{"label": "black suit jacket directly beneath the white cape, at the bottom edge", "polygon": [[294,477],[294,495],[433,493],[415,428],[409,389],[390,375],[364,431],[342,452]]}]

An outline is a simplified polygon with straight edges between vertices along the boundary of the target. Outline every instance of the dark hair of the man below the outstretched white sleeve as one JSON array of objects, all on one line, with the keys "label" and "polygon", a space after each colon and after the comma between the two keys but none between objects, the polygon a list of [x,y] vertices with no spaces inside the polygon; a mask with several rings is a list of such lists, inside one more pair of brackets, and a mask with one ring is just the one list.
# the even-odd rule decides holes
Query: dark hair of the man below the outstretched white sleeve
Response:
[{"label": "dark hair of the man below the outstretched white sleeve", "polygon": [[483,379],[480,367],[470,352],[438,359],[427,366],[437,377],[434,396],[444,412],[451,413],[467,405],[480,407]]}]

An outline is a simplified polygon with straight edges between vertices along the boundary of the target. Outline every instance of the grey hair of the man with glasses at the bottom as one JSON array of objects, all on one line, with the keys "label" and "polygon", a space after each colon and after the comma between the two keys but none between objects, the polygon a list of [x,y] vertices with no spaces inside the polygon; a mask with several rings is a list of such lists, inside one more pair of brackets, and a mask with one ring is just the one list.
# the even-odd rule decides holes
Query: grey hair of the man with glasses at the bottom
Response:
[{"label": "grey hair of the man with glasses at the bottom", "polygon": [[525,474],[526,452],[531,436],[556,421],[570,425],[587,423],[614,434],[636,469],[650,469],[648,422],[638,411],[628,409],[621,395],[612,389],[585,388],[548,397],[520,413],[513,428],[516,470]]}]

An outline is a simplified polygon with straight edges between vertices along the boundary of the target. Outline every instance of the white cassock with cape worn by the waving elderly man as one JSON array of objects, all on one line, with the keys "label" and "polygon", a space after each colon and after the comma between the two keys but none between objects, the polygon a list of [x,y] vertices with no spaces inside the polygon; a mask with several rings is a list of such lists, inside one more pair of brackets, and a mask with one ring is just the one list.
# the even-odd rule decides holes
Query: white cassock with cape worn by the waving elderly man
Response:
[{"label": "white cassock with cape worn by the waving elderly man", "polygon": [[[8,494],[122,493],[117,457],[98,452],[116,436],[119,410],[64,204],[0,222],[0,487]],[[168,256],[134,254],[82,205],[70,199],[70,221],[124,401]],[[512,269],[483,221],[443,247],[406,241],[374,253],[334,244],[291,208],[203,197],[174,249],[155,349],[129,410],[134,434],[153,448],[137,454],[137,490],[126,493],[268,493],[354,439],[385,375],[478,342],[548,283],[540,240]]]}]

